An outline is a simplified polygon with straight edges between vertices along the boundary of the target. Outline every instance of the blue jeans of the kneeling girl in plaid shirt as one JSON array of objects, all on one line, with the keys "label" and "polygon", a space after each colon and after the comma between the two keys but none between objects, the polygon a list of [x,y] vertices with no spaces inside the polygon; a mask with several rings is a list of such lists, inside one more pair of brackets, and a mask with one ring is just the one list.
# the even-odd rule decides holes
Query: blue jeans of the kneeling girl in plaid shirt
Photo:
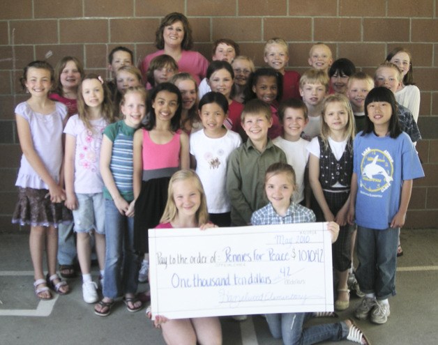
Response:
[{"label": "blue jeans of the kneeling girl in plaid shirt", "polygon": [[348,335],[348,327],[344,322],[323,323],[304,328],[305,321],[312,313],[266,314],[269,330],[275,339],[282,339],[285,345],[308,345],[324,342],[324,340],[339,341]]}]

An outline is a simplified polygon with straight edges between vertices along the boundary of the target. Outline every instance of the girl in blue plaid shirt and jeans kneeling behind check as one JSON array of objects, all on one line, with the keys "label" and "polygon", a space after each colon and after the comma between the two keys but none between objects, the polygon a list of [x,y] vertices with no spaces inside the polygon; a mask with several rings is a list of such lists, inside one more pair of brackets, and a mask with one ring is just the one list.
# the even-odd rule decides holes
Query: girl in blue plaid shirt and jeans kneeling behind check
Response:
[{"label": "girl in blue plaid shirt and jeans kneeling behind check", "polygon": [[[292,224],[315,222],[312,210],[294,203],[292,196],[296,191],[294,169],[285,163],[274,163],[267,170],[264,188],[269,204],[252,213],[251,224]],[[338,238],[339,225],[329,222],[332,243]],[[325,340],[343,339],[358,344],[369,344],[363,332],[351,320],[336,323],[324,323],[303,327],[304,323],[315,316],[336,316],[335,313],[282,313],[266,314],[269,330],[276,339],[288,344],[315,344]]]}]

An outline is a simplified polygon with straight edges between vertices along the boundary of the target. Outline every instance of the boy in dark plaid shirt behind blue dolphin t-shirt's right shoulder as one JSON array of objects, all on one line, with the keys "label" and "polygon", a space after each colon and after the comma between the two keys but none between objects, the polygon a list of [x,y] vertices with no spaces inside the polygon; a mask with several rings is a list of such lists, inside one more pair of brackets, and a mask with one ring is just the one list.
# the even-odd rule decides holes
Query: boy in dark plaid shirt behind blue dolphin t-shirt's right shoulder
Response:
[{"label": "boy in dark plaid shirt behind blue dolphin t-shirt's right shoulder", "polygon": [[[400,72],[394,63],[386,61],[377,67],[374,82],[375,86],[384,86],[393,91],[395,95],[398,87],[402,83],[402,72]],[[406,132],[411,138],[411,141],[416,144],[416,141],[421,139],[421,134],[411,111],[397,102],[397,116],[402,131]]]}]

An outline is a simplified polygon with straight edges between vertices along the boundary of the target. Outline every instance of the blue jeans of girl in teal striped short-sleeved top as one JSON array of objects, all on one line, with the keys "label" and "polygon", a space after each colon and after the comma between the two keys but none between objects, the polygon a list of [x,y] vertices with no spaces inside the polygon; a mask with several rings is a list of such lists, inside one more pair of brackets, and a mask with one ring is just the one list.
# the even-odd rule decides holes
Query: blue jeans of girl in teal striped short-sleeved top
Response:
[{"label": "blue jeans of girl in teal striped short-sleeved top", "polygon": [[134,217],[121,215],[112,200],[105,200],[105,238],[103,296],[136,293],[140,261],[134,252]]}]

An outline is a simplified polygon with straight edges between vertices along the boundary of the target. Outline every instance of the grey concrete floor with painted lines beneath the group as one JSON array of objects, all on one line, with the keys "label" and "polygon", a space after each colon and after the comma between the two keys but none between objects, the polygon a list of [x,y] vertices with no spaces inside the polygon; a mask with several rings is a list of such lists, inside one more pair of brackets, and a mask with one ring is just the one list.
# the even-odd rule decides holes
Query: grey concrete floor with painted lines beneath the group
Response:
[{"label": "grey concrete floor with painted lines beneath the group", "polygon": [[[356,322],[372,344],[438,344],[438,231],[402,231],[405,255],[398,262],[397,296],[385,325]],[[28,236],[0,233],[0,344],[164,344],[144,310],[126,311],[117,303],[101,318],[82,300],[79,278],[70,279],[72,293],[40,302],[33,294]],[[97,273],[95,274],[97,276]],[[142,284],[141,289],[146,289]],[[352,296],[342,319],[353,316],[360,300]],[[317,319],[312,322],[331,322]],[[225,345],[280,345],[266,321],[252,316],[243,323],[221,319]],[[331,343],[324,343],[331,344]],[[352,344],[340,342],[337,344]]]}]

